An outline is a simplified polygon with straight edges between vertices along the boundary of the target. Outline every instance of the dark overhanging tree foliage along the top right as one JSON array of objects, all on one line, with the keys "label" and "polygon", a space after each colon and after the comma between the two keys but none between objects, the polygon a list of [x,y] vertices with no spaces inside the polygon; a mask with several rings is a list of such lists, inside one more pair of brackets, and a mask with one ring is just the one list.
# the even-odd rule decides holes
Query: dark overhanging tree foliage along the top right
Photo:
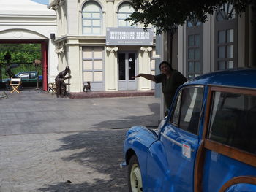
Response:
[{"label": "dark overhanging tree foliage along the top right", "polygon": [[249,5],[252,5],[255,13],[255,0],[132,0],[135,12],[127,20],[133,25],[142,23],[145,28],[150,24],[157,26],[157,34],[162,31],[173,34],[187,20],[197,18],[205,23],[208,14],[212,15],[222,4],[228,2],[233,4],[238,15]]}]

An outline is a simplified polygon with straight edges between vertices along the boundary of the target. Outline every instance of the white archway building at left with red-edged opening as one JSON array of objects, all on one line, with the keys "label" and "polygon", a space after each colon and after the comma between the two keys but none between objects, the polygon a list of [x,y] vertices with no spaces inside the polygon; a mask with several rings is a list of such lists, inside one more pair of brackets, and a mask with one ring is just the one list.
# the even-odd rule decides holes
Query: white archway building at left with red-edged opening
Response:
[{"label": "white archway building at left with red-edged opening", "polygon": [[54,81],[57,69],[55,44],[56,13],[30,0],[0,0],[0,43],[40,43],[42,45],[43,89]]}]

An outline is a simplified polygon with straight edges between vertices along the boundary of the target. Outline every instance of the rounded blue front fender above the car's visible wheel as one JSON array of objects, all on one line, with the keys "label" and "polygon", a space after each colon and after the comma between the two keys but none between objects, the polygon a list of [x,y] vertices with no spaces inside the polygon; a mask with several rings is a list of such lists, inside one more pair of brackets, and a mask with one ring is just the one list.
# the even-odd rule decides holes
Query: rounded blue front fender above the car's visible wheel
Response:
[{"label": "rounded blue front fender above the car's visible wheel", "polygon": [[148,148],[156,142],[158,135],[151,129],[145,126],[133,126],[127,131],[126,139],[124,141],[125,161],[129,164],[129,158],[133,154],[137,155],[140,164],[140,172],[146,178],[146,162]]}]

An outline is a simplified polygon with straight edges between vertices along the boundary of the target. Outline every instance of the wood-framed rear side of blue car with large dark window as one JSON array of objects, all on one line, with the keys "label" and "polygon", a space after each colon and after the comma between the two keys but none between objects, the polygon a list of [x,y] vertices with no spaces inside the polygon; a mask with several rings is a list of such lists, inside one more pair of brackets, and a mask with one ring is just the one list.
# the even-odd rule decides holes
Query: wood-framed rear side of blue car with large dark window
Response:
[{"label": "wood-framed rear side of blue car with large dark window", "polygon": [[198,174],[203,177],[201,191],[255,191],[256,91],[214,86],[209,90],[204,164]]}]

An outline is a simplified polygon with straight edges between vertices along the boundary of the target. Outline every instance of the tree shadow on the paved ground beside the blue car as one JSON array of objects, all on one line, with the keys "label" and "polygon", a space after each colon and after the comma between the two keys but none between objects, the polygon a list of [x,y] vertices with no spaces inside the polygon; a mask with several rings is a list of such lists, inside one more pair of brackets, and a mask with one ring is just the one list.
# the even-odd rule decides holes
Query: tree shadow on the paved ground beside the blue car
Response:
[{"label": "tree shadow on the paved ground beside the blue car", "polygon": [[[96,123],[92,129],[96,131],[80,131],[59,139],[62,145],[55,152],[79,150],[78,153],[72,153],[72,155],[61,158],[63,161],[68,161],[70,164],[75,162],[84,167],[89,167],[93,172],[101,175],[106,174],[108,180],[89,177],[94,182],[85,181],[77,184],[71,180],[72,183],[54,183],[45,188],[40,188],[39,191],[128,191],[127,168],[119,168],[119,164],[124,161],[123,144],[127,128],[129,128],[127,124],[132,122],[143,124],[148,121],[148,125],[156,126],[154,121],[159,120],[159,118],[156,118],[159,114],[157,105],[159,106],[157,103],[149,104],[153,115],[127,116],[120,120]],[[127,121],[129,122],[127,123]],[[115,129],[115,127],[120,127],[121,124],[124,124],[124,127],[127,128]],[[112,128],[108,128],[108,125]],[[135,125],[133,124],[133,126]],[[102,129],[102,127],[105,129]],[[85,172],[84,174],[88,173]]]}]

